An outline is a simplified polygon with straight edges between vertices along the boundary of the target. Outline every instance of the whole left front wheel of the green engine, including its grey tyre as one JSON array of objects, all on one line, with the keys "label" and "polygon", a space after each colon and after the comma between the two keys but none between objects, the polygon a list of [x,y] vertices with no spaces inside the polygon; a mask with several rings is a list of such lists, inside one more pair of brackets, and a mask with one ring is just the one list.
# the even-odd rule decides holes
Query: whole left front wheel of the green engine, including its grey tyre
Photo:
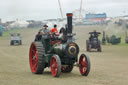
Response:
[{"label": "whole left front wheel of the green engine, including its grey tyre", "polygon": [[61,73],[61,61],[58,55],[53,55],[50,60],[51,73],[54,77],[59,77]]}]

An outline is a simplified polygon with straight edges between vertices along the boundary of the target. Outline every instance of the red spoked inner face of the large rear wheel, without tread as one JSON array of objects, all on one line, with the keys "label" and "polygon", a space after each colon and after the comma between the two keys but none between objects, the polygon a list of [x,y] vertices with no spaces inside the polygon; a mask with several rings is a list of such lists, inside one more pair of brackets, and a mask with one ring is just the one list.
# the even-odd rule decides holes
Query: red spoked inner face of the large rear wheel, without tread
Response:
[{"label": "red spoked inner face of the large rear wheel, without tread", "polygon": [[31,71],[36,72],[38,65],[38,54],[35,44],[31,45],[30,53],[29,53],[29,62],[30,62]]}]

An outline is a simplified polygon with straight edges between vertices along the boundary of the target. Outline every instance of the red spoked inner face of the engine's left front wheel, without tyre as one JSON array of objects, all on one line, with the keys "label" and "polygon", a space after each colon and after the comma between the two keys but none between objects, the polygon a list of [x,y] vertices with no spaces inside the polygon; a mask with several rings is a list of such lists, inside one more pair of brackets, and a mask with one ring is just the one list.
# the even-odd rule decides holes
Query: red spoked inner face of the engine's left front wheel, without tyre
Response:
[{"label": "red spoked inner face of the engine's left front wheel, without tyre", "polygon": [[52,75],[56,76],[58,73],[58,64],[57,64],[57,60],[55,57],[52,57],[52,59],[50,61],[50,66],[51,66]]}]

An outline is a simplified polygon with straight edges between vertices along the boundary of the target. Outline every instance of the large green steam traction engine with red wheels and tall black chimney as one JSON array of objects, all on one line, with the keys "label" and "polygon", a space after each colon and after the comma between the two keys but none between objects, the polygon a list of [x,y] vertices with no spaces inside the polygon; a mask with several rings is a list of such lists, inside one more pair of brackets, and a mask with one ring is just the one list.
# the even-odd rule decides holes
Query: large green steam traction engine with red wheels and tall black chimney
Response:
[{"label": "large green steam traction engine with red wheels and tall black chimney", "polygon": [[[42,35],[41,41],[34,41],[30,46],[29,62],[32,73],[42,74],[46,67],[51,69],[54,77],[61,72],[70,73],[74,66],[78,66],[81,75],[90,72],[90,60],[85,54],[79,54],[79,46],[73,40],[72,13],[67,14],[67,25],[62,37],[54,34]],[[78,60],[79,58],[79,60]]]}]

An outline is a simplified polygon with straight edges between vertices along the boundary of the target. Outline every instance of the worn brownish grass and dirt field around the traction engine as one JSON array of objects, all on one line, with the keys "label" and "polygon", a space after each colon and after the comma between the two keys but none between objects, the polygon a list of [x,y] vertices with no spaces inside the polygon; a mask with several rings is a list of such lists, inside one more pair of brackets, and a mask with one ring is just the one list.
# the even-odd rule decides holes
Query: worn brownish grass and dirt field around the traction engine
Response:
[{"label": "worn brownish grass and dirt field around the traction engine", "polygon": [[74,67],[71,73],[62,73],[59,78],[51,75],[47,68],[42,75],[32,74],[29,67],[29,46],[39,29],[24,29],[23,45],[10,46],[9,36],[0,38],[0,85],[128,85],[128,44],[104,45],[103,52],[86,52],[88,32],[104,30],[103,26],[75,27],[76,42],[80,54],[91,60],[91,71],[81,76]]}]

